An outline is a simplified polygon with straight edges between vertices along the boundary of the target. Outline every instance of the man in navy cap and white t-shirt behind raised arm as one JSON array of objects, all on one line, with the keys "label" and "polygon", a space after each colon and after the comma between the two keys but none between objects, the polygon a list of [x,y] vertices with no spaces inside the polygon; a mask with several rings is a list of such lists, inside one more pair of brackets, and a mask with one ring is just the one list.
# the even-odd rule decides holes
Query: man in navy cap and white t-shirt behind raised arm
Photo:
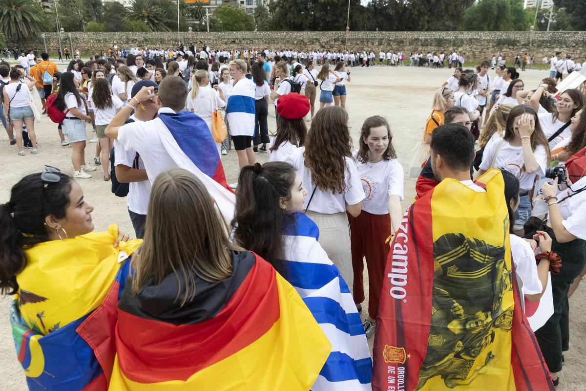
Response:
[{"label": "man in navy cap and white t-shirt behind raised arm", "polygon": [[[142,87],[152,87],[154,92],[158,91],[159,85],[151,80],[140,80],[134,84],[131,91],[131,99],[134,98]],[[158,104],[150,99],[141,102],[142,107],[132,114],[125,123],[145,122],[156,117],[159,110]],[[145,169],[142,157],[132,148],[124,148],[120,141],[114,140],[112,166],[114,166],[114,175],[118,182],[128,183],[128,195],[126,203],[128,206],[128,215],[134,227],[134,233],[137,239],[144,236],[145,222],[147,222],[147,206],[149,195],[151,194],[151,182],[148,180],[147,170]]]}]

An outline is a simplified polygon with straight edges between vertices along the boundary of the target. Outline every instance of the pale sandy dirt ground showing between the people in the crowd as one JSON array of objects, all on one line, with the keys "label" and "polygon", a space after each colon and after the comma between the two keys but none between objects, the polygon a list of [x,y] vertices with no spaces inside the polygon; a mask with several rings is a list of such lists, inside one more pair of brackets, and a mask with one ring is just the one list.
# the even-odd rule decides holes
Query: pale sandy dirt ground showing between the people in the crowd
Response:
[{"label": "pale sandy dirt ground showing between the people in the crowd", "polygon": [[[398,160],[406,169],[411,162],[411,151],[423,135],[425,120],[431,111],[431,100],[434,91],[451,76],[449,69],[413,69],[409,67],[370,67],[353,68],[352,81],[347,84],[347,111],[352,126],[352,136],[357,145],[357,134],[365,118],[370,115],[383,115],[389,120],[393,131],[393,144],[397,150]],[[528,70],[522,72],[526,86],[536,87],[539,80],[547,77],[544,70]],[[490,72],[493,79],[493,72]],[[38,96],[35,101],[40,107]],[[316,110],[319,102],[316,103]],[[4,130],[0,131],[0,203],[7,202],[11,186],[23,175],[39,172],[43,164],[57,166],[64,172],[73,174],[71,167],[71,149],[59,143],[57,127],[49,118],[43,116],[39,124],[35,124],[39,154],[32,155],[25,149],[26,155],[19,156],[16,146],[9,145]],[[269,128],[275,130],[274,110],[269,110]],[[87,127],[88,140],[93,137],[91,127]],[[86,161],[93,164],[96,144],[87,144]],[[224,169],[229,183],[235,182],[238,174],[236,153],[230,151],[223,158]],[[263,163],[268,154],[258,154],[257,159]],[[117,222],[122,229],[134,233],[128,217],[125,199],[118,198],[110,192],[110,182],[105,183],[101,177],[101,168],[93,173],[91,179],[79,181],[85,198],[94,206],[93,221],[96,230],[105,230],[108,225]],[[407,176],[407,175],[406,175]],[[415,179],[405,180],[404,208],[415,194]],[[366,269],[364,280],[367,281]],[[367,291],[367,286],[365,290]],[[571,298],[572,314],[570,317],[571,349],[565,352],[565,367],[560,375],[558,390],[586,390],[586,373],[582,372],[586,358],[580,352],[586,351],[584,325],[586,322],[584,299],[586,288],[582,287]],[[8,311],[11,298],[0,299],[0,389],[7,391],[26,390],[25,376],[18,360],[12,341]],[[367,302],[363,303],[366,310]],[[372,348],[372,341],[370,341]],[[582,368],[582,369],[580,369]],[[456,387],[456,389],[464,389]]]}]

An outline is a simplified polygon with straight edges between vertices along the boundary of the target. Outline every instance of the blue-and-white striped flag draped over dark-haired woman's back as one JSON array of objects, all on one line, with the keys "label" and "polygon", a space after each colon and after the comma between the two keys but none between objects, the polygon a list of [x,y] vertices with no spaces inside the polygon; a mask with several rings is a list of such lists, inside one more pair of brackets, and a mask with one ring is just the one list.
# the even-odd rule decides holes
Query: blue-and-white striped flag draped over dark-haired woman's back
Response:
[{"label": "blue-and-white striped flag draped over dark-haired woman's back", "polygon": [[372,359],[352,294],[318,243],[318,226],[302,213],[285,227],[287,280],[332,344],[313,391],[371,389]]}]

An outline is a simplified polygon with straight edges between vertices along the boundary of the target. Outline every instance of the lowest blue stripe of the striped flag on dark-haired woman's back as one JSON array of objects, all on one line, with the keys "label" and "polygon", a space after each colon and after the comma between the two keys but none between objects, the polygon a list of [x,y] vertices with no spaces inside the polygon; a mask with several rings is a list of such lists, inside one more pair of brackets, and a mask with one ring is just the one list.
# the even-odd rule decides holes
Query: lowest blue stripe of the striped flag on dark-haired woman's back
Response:
[{"label": "lowest blue stripe of the striped flag on dark-haired woman's back", "polygon": [[321,372],[330,382],[343,382],[358,378],[361,384],[372,382],[372,359],[353,360],[349,355],[331,352]]}]

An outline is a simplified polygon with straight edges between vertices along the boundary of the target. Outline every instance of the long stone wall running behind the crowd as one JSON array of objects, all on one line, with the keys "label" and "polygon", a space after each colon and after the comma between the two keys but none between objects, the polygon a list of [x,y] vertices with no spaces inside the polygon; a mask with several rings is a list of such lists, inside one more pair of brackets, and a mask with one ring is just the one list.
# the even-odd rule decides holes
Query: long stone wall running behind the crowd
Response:
[{"label": "long stone wall running behind the crowd", "polygon": [[[50,53],[57,52],[57,33],[44,33]],[[177,32],[71,32],[73,47],[84,54],[96,53],[108,47],[176,47]],[[472,32],[472,31],[438,31],[438,32],[181,32],[181,42],[193,41],[197,47],[202,43],[212,48],[250,48],[264,49],[331,49],[331,50],[369,50],[378,53],[380,49],[403,50],[404,52],[428,52],[456,50],[464,53],[466,62],[481,61],[493,53],[507,55],[529,52],[535,59],[544,54],[560,50],[584,56],[586,53],[586,32]],[[347,45],[346,45],[347,44]],[[62,45],[69,46],[69,33],[62,35]],[[43,48],[39,36],[29,42],[27,47]]]}]

